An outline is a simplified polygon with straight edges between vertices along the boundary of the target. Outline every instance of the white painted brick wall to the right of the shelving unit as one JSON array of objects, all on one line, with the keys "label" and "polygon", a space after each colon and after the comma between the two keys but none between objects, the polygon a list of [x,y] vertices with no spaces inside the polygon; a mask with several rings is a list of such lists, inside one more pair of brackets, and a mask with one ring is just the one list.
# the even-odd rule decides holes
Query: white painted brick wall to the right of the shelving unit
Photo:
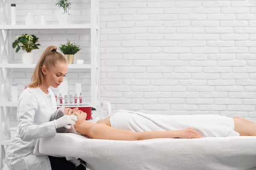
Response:
[{"label": "white painted brick wall to the right of the shelving unit", "polygon": [[101,0],[113,109],[256,118],[256,1]]}]

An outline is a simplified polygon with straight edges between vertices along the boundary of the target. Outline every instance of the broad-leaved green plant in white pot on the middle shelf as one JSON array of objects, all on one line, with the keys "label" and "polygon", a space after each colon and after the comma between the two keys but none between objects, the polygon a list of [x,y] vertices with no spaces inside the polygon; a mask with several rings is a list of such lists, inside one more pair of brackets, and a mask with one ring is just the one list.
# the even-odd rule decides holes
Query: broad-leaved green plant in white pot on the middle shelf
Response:
[{"label": "broad-leaved green plant in white pot on the middle shelf", "polygon": [[22,36],[17,36],[16,40],[12,43],[12,48],[16,48],[16,53],[20,51],[20,48],[23,51],[26,51],[22,54],[22,62],[24,64],[31,64],[33,60],[33,53],[31,53],[34,49],[39,49],[38,46],[38,37],[35,35],[22,34]]}]

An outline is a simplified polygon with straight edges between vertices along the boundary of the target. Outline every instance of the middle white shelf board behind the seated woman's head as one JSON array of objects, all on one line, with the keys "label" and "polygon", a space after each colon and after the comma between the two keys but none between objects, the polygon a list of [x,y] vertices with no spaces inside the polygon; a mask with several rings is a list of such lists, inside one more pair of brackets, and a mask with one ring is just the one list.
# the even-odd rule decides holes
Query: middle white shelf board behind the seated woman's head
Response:
[{"label": "middle white shelf board behind the seated woman's head", "polygon": [[[35,68],[36,64],[0,64],[0,68]],[[69,64],[68,68],[91,68],[90,64]]]}]

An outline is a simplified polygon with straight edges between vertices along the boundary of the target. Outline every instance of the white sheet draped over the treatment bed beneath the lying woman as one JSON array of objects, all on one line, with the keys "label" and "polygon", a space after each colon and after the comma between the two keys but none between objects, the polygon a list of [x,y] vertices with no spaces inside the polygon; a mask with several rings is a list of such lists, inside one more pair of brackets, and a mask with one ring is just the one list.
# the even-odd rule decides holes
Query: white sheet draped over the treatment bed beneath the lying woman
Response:
[{"label": "white sheet draped over the treatment bed beneath the lying woman", "polygon": [[38,139],[34,153],[81,158],[91,170],[249,170],[256,137],[115,141],[57,133]]}]

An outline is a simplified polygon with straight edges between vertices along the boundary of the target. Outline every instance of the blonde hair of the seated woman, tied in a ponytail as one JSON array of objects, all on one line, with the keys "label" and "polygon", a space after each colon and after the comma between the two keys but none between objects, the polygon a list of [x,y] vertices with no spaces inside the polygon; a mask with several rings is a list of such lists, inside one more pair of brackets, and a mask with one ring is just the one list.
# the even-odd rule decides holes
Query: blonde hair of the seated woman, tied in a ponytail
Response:
[{"label": "blonde hair of the seated woman, tied in a ponytail", "polygon": [[42,66],[47,69],[54,67],[57,62],[67,63],[67,59],[59,52],[57,52],[57,47],[51,45],[47,47],[38,63],[35,66],[35,70],[31,77],[31,83],[27,85],[29,88],[38,88],[40,85],[44,84],[44,74],[42,72]]}]

